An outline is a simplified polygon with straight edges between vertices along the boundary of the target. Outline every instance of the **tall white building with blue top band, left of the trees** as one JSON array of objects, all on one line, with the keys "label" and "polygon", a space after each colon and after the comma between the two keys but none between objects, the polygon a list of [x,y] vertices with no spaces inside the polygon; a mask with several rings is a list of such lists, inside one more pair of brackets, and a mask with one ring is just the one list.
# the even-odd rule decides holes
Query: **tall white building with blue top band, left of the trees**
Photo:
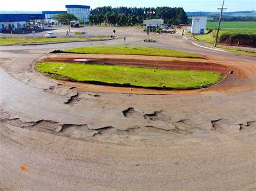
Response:
[{"label": "tall white building with blue top band, left of the trees", "polygon": [[89,23],[90,6],[87,5],[66,5],[66,11],[73,14],[75,17],[84,20],[84,23]]}]

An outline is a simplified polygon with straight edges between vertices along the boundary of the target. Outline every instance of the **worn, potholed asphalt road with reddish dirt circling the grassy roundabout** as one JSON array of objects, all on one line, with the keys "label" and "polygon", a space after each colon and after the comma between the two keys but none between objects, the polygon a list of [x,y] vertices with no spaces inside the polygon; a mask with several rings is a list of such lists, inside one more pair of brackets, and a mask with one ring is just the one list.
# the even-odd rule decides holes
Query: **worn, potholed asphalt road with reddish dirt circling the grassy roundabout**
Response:
[{"label": "worn, potholed asphalt road with reddish dirt circling the grassy roundabout", "polygon": [[[255,189],[255,58],[178,34],[143,43],[141,29],[116,30],[111,41],[0,47],[1,189]],[[59,84],[33,70],[55,49],[122,46],[124,36],[127,46],[198,53],[235,73],[203,91],[144,95]]]}]

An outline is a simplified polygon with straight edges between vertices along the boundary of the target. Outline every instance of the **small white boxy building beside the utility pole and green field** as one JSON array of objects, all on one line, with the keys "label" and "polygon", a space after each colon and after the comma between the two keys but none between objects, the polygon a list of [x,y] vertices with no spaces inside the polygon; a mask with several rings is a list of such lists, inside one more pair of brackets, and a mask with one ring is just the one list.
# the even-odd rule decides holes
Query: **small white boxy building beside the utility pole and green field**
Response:
[{"label": "small white boxy building beside the utility pole and green field", "polygon": [[193,17],[191,34],[204,34],[206,30],[207,17]]}]

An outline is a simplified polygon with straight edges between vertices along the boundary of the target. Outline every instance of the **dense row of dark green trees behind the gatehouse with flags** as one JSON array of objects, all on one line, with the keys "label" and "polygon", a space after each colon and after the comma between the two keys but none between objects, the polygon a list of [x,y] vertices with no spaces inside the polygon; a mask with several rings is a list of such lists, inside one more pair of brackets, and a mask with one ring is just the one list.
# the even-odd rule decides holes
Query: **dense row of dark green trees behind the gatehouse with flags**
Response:
[{"label": "dense row of dark green trees behind the gatehouse with flags", "polygon": [[144,19],[164,19],[164,23],[171,25],[187,24],[187,15],[183,8],[168,6],[157,8],[127,8],[121,6],[112,8],[103,6],[91,10],[90,24],[130,26],[141,25]]}]

